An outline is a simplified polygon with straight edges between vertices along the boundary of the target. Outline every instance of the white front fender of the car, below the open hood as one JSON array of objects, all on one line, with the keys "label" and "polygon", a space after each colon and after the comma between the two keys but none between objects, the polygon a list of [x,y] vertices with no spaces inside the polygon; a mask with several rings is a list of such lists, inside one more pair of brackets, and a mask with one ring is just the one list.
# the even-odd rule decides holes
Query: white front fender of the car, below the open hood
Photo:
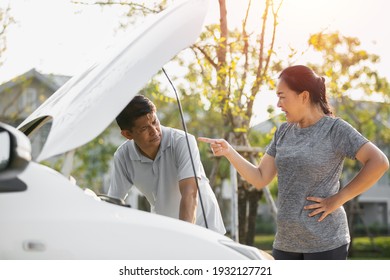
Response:
[{"label": "white front fender of the car, below the open hood", "polygon": [[221,234],[100,201],[38,163],[19,179],[26,191],[0,195],[0,259],[248,259]]}]

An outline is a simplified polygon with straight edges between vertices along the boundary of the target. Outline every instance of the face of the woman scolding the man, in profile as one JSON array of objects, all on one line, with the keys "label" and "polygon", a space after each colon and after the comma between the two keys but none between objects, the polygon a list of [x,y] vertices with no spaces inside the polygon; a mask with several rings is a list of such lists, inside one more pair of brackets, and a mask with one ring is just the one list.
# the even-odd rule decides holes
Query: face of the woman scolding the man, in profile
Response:
[{"label": "face of the woman scolding the man, in profile", "polygon": [[287,121],[299,122],[303,118],[305,109],[304,94],[291,90],[283,80],[280,80],[276,94],[278,96],[277,106],[285,113]]}]

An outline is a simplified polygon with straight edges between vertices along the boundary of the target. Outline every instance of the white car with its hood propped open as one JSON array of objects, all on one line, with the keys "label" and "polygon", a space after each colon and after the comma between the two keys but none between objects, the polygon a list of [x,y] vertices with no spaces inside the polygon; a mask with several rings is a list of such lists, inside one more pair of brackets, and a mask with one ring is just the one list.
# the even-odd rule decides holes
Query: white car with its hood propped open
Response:
[{"label": "white car with its hood propped open", "polygon": [[[39,163],[98,136],[197,39],[208,4],[180,1],[140,26],[106,61],[70,79],[18,129],[0,124],[0,259],[272,258],[203,227],[107,203]],[[45,141],[31,159],[36,135]]]}]

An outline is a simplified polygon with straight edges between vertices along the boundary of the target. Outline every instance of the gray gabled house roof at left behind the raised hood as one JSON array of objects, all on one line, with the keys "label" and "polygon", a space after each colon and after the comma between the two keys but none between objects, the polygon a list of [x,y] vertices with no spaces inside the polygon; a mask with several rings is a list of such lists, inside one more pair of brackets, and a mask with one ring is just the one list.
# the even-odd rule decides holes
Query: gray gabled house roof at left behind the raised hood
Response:
[{"label": "gray gabled house roof at left behind the raised hood", "polygon": [[45,84],[50,90],[55,92],[58,88],[60,88],[66,81],[70,79],[69,76],[64,75],[54,75],[54,74],[41,74],[35,68],[25,72],[22,75],[19,75],[8,82],[0,85],[0,93],[3,91],[13,88],[26,80],[29,79],[37,79],[41,83]]}]

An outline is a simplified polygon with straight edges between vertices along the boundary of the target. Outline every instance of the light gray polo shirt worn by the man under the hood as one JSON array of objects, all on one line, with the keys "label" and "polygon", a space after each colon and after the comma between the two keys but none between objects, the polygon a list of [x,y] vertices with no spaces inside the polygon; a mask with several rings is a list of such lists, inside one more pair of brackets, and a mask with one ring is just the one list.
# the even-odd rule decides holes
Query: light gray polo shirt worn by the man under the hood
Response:
[{"label": "light gray polo shirt worn by the man under the hood", "polygon": [[[178,219],[179,181],[194,177],[194,172],[184,131],[161,126],[161,132],[160,149],[154,160],[142,155],[132,140],[117,149],[108,195],[125,198],[135,186],[150,203],[151,212]],[[225,234],[218,201],[203,169],[195,137],[188,136],[208,228]],[[196,224],[205,226],[199,199]]]}]

